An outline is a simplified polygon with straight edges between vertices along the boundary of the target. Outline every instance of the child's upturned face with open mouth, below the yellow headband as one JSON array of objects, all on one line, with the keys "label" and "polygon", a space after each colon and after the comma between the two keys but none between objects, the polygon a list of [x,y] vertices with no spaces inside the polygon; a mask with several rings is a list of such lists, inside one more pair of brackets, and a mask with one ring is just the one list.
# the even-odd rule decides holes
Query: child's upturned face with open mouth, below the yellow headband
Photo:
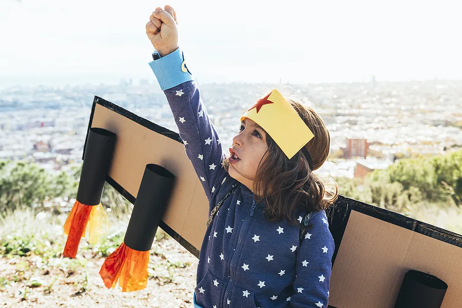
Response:
[{"label": "child's upturned face with open mouth, below the yellow headband", "polygon": [[[252,191],[254,181],[242,177],[235,168],[248,178],[255,179],[258,164],[268,148],[265,138],[266,132],[263,128],[251,119],[244,118],[239,133],[233,138],[233,146],[229,148],[231,155],[229,158],[229,176]],[[239,159],[233,159],[235,153]]]}]

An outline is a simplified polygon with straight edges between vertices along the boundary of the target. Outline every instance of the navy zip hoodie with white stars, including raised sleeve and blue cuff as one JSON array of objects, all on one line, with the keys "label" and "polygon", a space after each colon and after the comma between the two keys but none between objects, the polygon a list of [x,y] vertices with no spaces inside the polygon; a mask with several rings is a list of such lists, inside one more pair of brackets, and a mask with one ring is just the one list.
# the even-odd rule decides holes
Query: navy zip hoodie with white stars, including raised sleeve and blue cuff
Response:
[{"label": "navy zip hoodie with white stars, including raised sleeve and blue cuff", "polygon": [[[194,304],[204,308],[327,307],[334,240],[324,210],[310,215],[300,242],[299,227],[264,218],[265,202],[231,178],[222,165],[221,140],[199,88],[178,48],[149,63],[170,105],[186,155],[209,200],[209,224],[199,255]],[[224,149],[226,150],[226,149]],[[301,222],[305,213],[297,213]]]}]

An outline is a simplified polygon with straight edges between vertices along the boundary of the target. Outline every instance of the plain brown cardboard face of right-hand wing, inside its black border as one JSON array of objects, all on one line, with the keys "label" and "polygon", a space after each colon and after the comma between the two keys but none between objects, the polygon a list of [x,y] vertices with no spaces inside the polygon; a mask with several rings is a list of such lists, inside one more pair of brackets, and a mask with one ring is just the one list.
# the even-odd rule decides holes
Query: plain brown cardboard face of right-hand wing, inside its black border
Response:
[{"label": "plain brown cardboard face of right-hand wing, inside its black border", "polygon": [[462,248],[352,210],[332,270],[329,304],[392,308],[409,269],[448,284],[441,308],[462,306]]}]

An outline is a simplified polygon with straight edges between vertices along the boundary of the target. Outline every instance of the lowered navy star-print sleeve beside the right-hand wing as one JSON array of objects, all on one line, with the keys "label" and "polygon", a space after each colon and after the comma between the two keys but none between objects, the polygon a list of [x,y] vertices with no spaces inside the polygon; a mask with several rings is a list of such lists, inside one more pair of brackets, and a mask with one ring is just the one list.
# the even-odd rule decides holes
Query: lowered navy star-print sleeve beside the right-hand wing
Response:
[{"label": "lowered navy star-print sleeve beside the right-hand wing", "polygon": [[328,306],[334,238],[324,210],[313,214],[310,224],[313,227],[302,239],[297,253],[295,294],[290,299],[293,308]]}]

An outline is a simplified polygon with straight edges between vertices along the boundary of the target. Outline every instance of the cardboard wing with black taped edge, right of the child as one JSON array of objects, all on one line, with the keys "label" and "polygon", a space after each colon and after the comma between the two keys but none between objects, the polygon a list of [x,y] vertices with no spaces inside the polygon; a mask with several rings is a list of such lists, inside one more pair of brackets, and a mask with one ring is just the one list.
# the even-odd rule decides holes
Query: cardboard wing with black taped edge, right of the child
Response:
[{"label": "cardboard wing with black taped edge, right of the child", "polygon": [[[447,283],[441,308],[462,306],[461,235],[343,196],[328,217],[335,241],[329,307],[393,308],[411,269]],[[427,307],[407,307],[417,306]]]}]

